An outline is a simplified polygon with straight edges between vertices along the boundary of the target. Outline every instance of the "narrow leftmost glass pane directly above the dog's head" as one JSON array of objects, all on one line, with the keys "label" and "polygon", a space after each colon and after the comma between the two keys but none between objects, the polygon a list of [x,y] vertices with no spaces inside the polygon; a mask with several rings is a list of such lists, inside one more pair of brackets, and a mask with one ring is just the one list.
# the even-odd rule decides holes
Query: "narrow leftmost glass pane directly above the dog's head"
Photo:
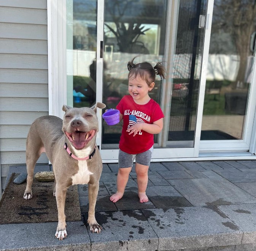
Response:
[{"label": "narrow leftmost glass pane directly above the dog's head", "polygon": [[67,104],[96,100],[97,0],[67,0]]}]

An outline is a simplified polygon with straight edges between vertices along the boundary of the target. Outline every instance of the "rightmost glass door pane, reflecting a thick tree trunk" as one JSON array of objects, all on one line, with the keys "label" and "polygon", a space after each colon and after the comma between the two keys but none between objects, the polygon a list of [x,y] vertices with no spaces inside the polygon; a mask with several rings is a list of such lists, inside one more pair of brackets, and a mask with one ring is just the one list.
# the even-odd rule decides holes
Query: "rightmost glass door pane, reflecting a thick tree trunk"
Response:
[{"label": "rightmost glass door pane, reflecting a thick tree trunk", "polygon": [[201,140],[244,140],[255,25],[254,1],[214,2]]}]

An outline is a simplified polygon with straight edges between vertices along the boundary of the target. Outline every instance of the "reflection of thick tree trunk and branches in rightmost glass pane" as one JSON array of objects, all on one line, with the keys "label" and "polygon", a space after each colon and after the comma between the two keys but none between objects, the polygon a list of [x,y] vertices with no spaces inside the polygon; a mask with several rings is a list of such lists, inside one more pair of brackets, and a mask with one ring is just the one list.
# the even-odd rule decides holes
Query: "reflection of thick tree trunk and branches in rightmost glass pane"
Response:
[{"label": "reflection of thick tree trunk and branches in rightmost glass pane", "polygon": [[248,56],[252,55],[250,38],[256,31],[256,1],[215,0],[214,8],[212,34],[221,31],[228,33],[235,47],[233,53],[240,56],[239,70],[232,88],[235,88],[237,83],[242,83],[244,86],[246,62]]}]

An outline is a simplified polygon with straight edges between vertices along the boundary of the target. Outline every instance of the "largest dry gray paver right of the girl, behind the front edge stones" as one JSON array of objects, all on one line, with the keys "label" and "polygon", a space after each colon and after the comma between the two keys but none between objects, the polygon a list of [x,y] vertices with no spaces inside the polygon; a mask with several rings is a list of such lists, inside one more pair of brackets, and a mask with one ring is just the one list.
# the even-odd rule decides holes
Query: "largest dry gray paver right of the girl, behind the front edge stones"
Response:
[{"label": "largest dry gray paver right of the girl, behind the front edge stones", "polygon": [[169,180],[193,206],[256,203],[256,199],[222,178]]}]

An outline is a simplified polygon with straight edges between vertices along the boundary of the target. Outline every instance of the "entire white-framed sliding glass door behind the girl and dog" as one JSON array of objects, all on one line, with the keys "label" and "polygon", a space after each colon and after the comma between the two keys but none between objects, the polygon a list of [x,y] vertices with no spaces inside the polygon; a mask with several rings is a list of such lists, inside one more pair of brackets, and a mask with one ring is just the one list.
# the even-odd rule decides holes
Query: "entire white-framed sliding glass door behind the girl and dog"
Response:
[{"label": "entire white-framed sliding glass door behind the girl and dog", "polygon": [[[162,62],[167,79],[149,93],[165,115],[153,159],[248,150],[256,15],[249,0],[234,11],[228,2],[213,11],[213,0],[66,0],[67,104],[115,108],[128,94],[128,61]],[[102,159],[116,160],[122,123],[107,126],[101,115],[97,145]]]}]

